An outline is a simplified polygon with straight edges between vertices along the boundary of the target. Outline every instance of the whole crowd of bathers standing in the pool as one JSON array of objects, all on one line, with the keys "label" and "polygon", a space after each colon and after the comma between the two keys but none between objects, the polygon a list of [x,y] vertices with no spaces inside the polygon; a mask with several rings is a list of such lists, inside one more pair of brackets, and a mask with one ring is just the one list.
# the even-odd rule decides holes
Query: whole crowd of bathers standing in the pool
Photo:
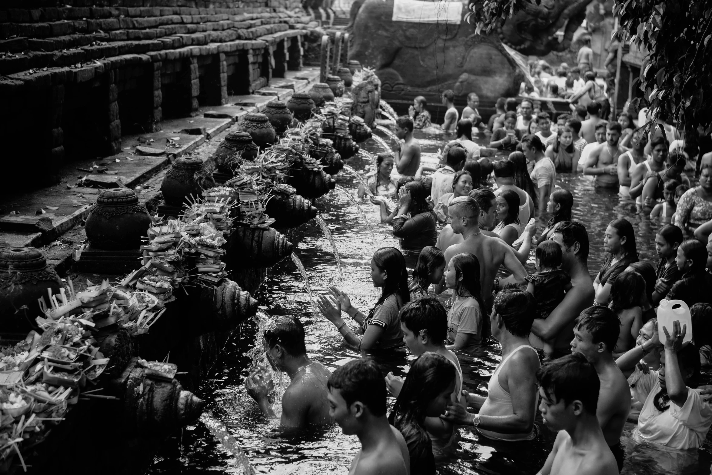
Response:
[{"label": "whole crowd of bathers standing in the pool", "polygon": [[[437,167],[426,167],[413,137],[423,110],[416,99],[396,121],[402,142],[378,155],[358,191],[402,249],[419,250],[414,269],[399,249],[383,247],[370,264],[381,291],[372,308],[355,308],[335,287],[318,296],[345,345],[405,345],[417,357],[407,376],[383,374],[368,357],[330,372],[308,357],[300,320],[276,318],[263,345],[291,378],[281,423],[336,422],[356,435],[352,474],[434,474],[457,427],[528,441],[538,414],[558,432],[543,475],[618,474],[630,421],[633,444],[696,451],[712,425],[712,387],[700,386],[701,368],[712,365],[712,141],[679,140],[664,123],[646,128],[644,110],[606,121],[593,103],[553,125],[534,101],[508,99],[485,123],[477,105],[471,95],[463,118],[451,118],[456,139]],[[476,129],[511,154],[481,157]],[[572,208],[585,204],[557,186],[561,172],[637,199],[655,226],[658,260],[639,259],[634,226],[612,216],[602,266],[590,273],[589,233],[572,220]],[[484,345],[498,345],[502,358],[481,396],[464,385],[459,355]],[[246,387],[273,414],[261,368]]]}]

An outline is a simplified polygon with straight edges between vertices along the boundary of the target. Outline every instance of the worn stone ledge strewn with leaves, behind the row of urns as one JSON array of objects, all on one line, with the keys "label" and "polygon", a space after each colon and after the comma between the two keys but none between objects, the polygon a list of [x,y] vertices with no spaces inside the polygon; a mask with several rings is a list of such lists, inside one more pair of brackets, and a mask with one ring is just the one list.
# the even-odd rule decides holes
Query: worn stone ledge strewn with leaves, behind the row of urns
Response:
[{"label": "worn stone ledge strewn with leaves, behind the row of urns", "polygon": [[[286,71],[252,95],[229,96],[229,105],[204,108],[202,116],[164,120],[159,132],[122,137],[122,151],[97,160],[69,162],[62,181],[51,187],[0,198],[0,247],[42,249],[48,264],[63,275],[76,244],[85,239],[83,224],[102,189],[134,189],[155,212],[165,169],[178,157],[209,158],[232,125],[248,113],[262,112],[271,100],[288,100],[318,82],[318,68]],[[105,172],[101,172],[105,169]]]}]

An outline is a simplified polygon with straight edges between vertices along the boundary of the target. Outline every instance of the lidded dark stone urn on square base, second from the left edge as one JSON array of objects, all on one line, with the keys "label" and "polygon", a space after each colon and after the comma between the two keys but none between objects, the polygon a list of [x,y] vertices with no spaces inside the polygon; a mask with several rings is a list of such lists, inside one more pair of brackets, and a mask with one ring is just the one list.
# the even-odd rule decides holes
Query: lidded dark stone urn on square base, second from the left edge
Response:
[{"label": "lidded dark stone urn on square base, second from the left edge", "polygon": [[132,189],[105,189],[87,216],[86,233],[97,249],[138,249],[151,222]]}]

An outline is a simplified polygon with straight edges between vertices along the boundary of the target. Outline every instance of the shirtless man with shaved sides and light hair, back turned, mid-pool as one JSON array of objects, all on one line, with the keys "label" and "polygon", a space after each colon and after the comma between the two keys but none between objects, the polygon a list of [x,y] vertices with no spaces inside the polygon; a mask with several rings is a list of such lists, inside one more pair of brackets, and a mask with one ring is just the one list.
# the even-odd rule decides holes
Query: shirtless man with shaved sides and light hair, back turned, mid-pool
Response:
[{"label": "shirtless man with shaved sides and light hair, back turned, mid-pool", "polygon": [[[451,216],[452,230],[462,234],[464,241],[461,244],[450,246],[445,251],[445,264],[455,254],[469,252],[474,254],[480,262],[480,282],[482,298],[486,306],[492,301],[492,289],[504,288],[508,283],[523,283],[526,276],[524,266],[520,263],[514,250],[502,239],[486,236],[480,231],[478,220],[480,207],[471,197],[457,197],[450,202],[448,214]],[[497,278],[497,271],[504,266],[511,276]],[[441,284],[442,285],[442,284]]]}]

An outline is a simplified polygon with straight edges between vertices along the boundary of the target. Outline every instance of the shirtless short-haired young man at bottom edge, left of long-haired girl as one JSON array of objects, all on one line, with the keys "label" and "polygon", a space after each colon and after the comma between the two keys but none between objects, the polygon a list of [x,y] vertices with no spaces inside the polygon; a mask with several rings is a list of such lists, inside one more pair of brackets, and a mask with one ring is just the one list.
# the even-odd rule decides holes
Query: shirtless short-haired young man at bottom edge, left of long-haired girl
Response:
[{"label": "shirtless short-haired young man at bottom edge, left of long-haired girl", "polygon": [[349,475],[409,475],[410,456],[402,434],[386,418],[386,382],[370,358],[352,360],[329,378],[330,414],[361,450]]}]

